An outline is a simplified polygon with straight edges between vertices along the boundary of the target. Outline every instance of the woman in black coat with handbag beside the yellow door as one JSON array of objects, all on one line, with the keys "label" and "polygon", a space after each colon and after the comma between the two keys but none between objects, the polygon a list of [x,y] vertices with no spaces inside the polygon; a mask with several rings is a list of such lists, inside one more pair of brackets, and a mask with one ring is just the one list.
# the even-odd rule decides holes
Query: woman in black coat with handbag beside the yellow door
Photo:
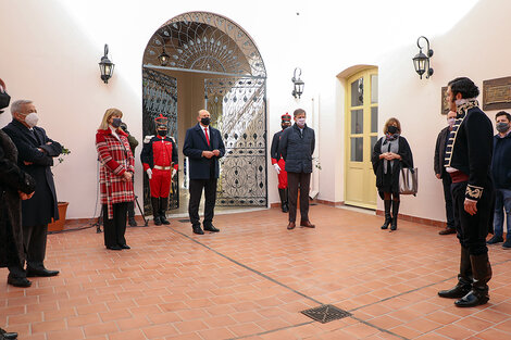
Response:
[{"label": "woman in black coat with handbag beside the yellow door", "polygon": [[[413,167],[412,150],[401,137],[401,124],[389,118],[384,126],[385,136],[374,144],[371,162],[376,175],[378,194],[384,200],[385,222],[382,229],[396,230],[399,213],[399,172],[402,167]],[[392,215],[390,215],[390,206]]]}]

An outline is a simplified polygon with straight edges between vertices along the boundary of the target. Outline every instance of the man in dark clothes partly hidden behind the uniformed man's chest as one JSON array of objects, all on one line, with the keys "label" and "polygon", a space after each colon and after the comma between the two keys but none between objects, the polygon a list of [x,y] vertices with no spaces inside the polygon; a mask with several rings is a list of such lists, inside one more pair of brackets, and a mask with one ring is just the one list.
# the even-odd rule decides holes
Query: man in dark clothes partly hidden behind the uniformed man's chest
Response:
[{"label": "man in dark clothes partly hidden behind the uniformed man's chest", "polygon": [[436,139],[436,147],[435,147],[435,160],[434,160],[434,167],[435,167],[435,176],[438,179],[441,179],[441,184],[444,186],[444,199],[446,201],[446,215],[447,215],[447,226],[444,230],[440,230],[439,235],[449,235],[456,234],[456,218],[454,218],[454,207],[452,205],[452,193],[451,193],[451,176],[446,172],[444,166],[444,159],[446,156],[446,141],[447,138],[452,130],[452,126],[454,126],[456,121],[456,112],[449,111],[447,114],[447,124],[448,126],[444,128]]}]

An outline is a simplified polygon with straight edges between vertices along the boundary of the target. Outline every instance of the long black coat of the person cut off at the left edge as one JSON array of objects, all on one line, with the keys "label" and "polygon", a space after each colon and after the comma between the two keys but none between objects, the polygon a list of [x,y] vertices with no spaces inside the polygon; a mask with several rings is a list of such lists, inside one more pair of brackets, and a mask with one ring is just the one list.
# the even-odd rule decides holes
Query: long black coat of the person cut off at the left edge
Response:
[{"label": "long black coat of the person cut off at the left edge", "polygon": [[8,264],[8,230],[11,228],[20,265],[25,264],[23,250],[22,204],[18,191],[32,193],[36,181],[17,166],[17,150],[11,138],[0,130],[0,267]]}]

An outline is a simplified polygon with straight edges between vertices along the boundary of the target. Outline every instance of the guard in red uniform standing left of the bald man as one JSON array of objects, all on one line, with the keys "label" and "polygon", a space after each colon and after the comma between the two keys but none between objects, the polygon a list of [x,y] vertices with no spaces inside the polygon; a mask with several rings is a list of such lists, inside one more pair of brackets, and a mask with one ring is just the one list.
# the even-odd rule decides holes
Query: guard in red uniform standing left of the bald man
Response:
[{"label": "guard in red uniform standing left of the bald man", "polygon": [[169,119],[160,114],[154,118],[157,136],[146,136],[140,154],[144,171],[149,177],[151,204],[154,224],[171,224],[165,217],[169,206],[171,182],[177,173],[177,147],[172,137],[166,136]]}]

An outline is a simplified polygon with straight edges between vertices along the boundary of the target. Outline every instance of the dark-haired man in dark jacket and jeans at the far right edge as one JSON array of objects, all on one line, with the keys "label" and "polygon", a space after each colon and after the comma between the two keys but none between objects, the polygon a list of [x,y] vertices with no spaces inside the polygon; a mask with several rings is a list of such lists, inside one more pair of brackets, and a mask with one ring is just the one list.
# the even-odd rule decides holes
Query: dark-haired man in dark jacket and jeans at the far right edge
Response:
[{"label": "dark-haired man in dark jacket and jeans at the far right edge", "polygon": [[494,136],[494,156],[491,175],[495,181],[494,237],[486,242],[495,244],[503,242],[502,227],[506,212],[504,249],[511,249],[511,115],[500,111],[495,115],[498,134]]}]

